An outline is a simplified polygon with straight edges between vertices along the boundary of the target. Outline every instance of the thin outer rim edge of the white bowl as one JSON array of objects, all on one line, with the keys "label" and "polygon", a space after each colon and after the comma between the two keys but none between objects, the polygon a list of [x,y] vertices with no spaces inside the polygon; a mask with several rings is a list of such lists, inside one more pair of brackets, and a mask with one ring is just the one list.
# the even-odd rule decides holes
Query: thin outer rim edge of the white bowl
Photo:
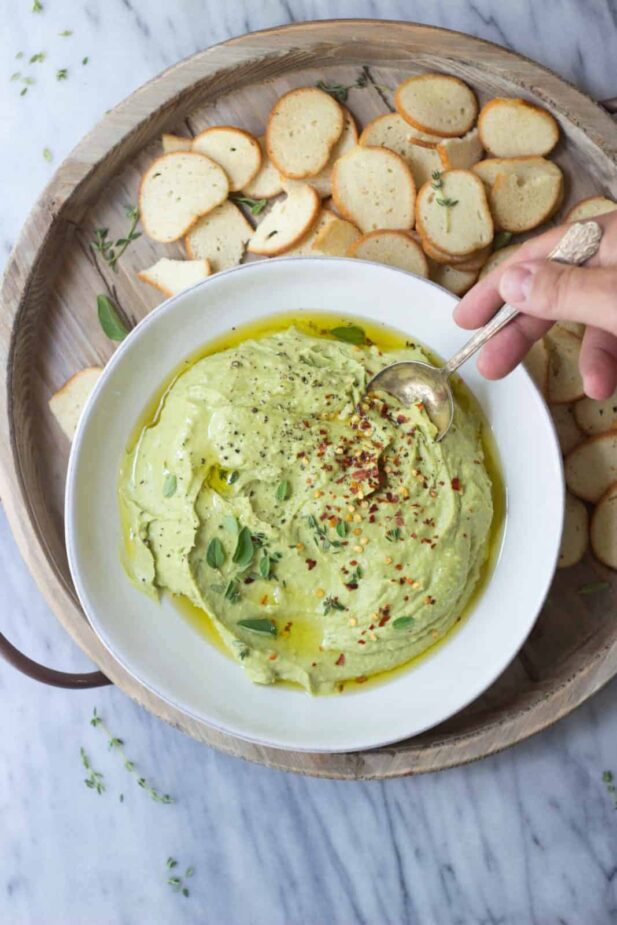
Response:
[{"label": "thin outer rim edge of the white bowl", "polygon": [[[360,742],[360,743],[355,743],[353,745],[340,747],[336,749],[333,749],[330,747],[319,747],[315,745],[310,745],[310,746],[308,745],[302,746],[299,744],[286,745],[286,744],[282,744],[279,742],[273,742],[270,739],[263,738],[260,736],[253,736],[253,735],[247,734],[243,730],[239,730],[237,728],[231,728],[230,726],[220,724],[217,721],[213,720],[212,718],[205,718],[201,713],[195,711],[194,709],[189,707],[187,704],[183,703],[182,700],[175,698],[173,695],[167,693],[164,689],[157,687],[150,680],[142,677],[136,671],[135,666],[131,665],[130,658],[126,659],[125,656],[121,652],[119,652],[119,650],[115,647],[112,641],[107,637],[105,630],[104,630],[104,624],[101,621],[99,621],[98,616],[96,615],[96,607],[92,605],[88,592],[84,586],[84,583],[82,582],[82,575],[81,575],[80,566],[78,562],[78,551],[77,551],[77,545],[76,545],[76,530],[75,530],[75,523],[74,523],[75,510],[76,510],[75,473],[78,467],[79,455],[81,452],[84,434],[86,432],[87,422],[91,416],[93,408],[95,407],[98,401],[99,395],[101,394],[101,392],[105,390],[107,386],[107,381],[112,377],[113,371],[115,370],[116,366],[122,362],[122,359],[124,358],[125,353],[127,353],[131,349],[134,342],[137,339],[139,339],[139,337],[143,336],[143,333],[147,331],[152,325],[156,325],[157,323],[160,322],[161,318],[169,314],[169,312],[172,312],[174,308],[177,306],[177,304],[181,303],[183,300],[189,297],[190,294],[195,293],[197,290],[202,290],[202,289],[207,291],[207,288],[209,285],[215,282],[219,283],[221,279],[225,277],[230,277],[236,274],[246,273],[247,271],[268,273],[268,272],[271,272],[272,267],[280,265],[282,263],[284,263],[285,265],[289,265],[292,263],[315,265],[315,264],[323,264],[324,262],[330,265],[333,263],[346,264],[346,265],[353,266],[355,268],[357,268],[357,265],[358,265],[357,259],[350,258],[350,257],[334,257],[334,258],[325,257],[325,256],[285,257],[284,255],[281,255],[275,258],[270,258],[268,260],[259,260],[259,261],[252,261],[248,264],[240,264],[238,266],[230,267],[226,270],[219,271],[216,274],[212,274],[206,279],[200,280],[199,282],[193,284],[190,287],[187,287],[181,292],[173,296],[170,296],[169,298],[165,299],[160,305],[154,308],[151,312],[149,312],[144,318],[142,318],[135,325],[134,328],[131,329],[127,337],[119,344],[117,349],[114,351],[114,354],[112,355],[110,360],[105,365],[103,369],[103,373],[98,379],[93,391],[88,396],[88,399],[82,410],[80,420],[78,422],[78,427],[77,427],[77,430],[76,430],[76,433],[73,439],[73,443],[71,446],[71,452],[70,452],[69,463],[68,463],[68,468],[67,468],[67,477],[66,477],[65,544],[66,544],[67,558],[69,562],[69,569],[71,572],[71,577],[73,579],[75,589],[76,589],[76,592],[79,598],[79,602],[84,611],[84,614],[86,616],[89,626],[92,628],[93,632],[96,634],[96,636],[101,641],[101,643],[103,644],[107,652],[111,655],[111,657],[115,659],[115,661],[135,681],[143,685],[148,691],[150,691],[155,696],[161,698],[161,700],[163,700],[168,705],[182,712],[185,716],[199,723],[203,723],[223,735],[231,735],[233,737],[242,739],[246,742],[250,742],[255,745],[276,748],[276,749],[280,749],[284,751],[315,753],[315,754],[317,753],[344,754],[344,753],[351,753],[351,752],[356,752],[356,751],[382,748],[385,746],[393,745],[399,741],[404,741],[404,738],[402,739],[401,736],[399,735],[395,737],[388,736],[386,738],[380,739],[379,741],[371,741],[370,743]],[[426,287],[431,287],[431,288],[438,290],[441,293],[445,293],[451,299],[453,305],[459,301],[458,297],[453,295],[449,290],[445,289],[444,287],[438,285],[433,280],[430,280],[428,278],[418,277],[415,274],[409,273],[406,270],[400,269],[398,267],[388,266],[386,264],[378,263],[376,261],[363,260],[362,263],[368,264],[372,266],[373,268],[378,269],[379,271],[387,271],[389,273],[398,274],[399,276],[411,277],[416,282],[419,282],[421,285],[424,285]],[[280,314],[280,312],[276,312],[276,311],[272,312],[273,317],[275,317],[277,314]],[[333,310],[333,314],[337,314],[336,309]],[[341,314],[349,315],[350,317],[353,317],[353,312],[343,311],[341,312]],[[267,317],[267,315],[265,313],[260,313],[260,317],[265,318]],[[380,319],[377,318],[376,316],[373,316],[371,320],[373,322],[380,323]],[[389,325],[389,326],[392,326],[392,325]],[[215,336],[218,337],[221,335],[219,334]],[[207,344],[208,339],[205,339],[203,343]],[[524,366],[522,366],[522,364],[519,365],[518,369],[515,370],[515,372],[517,372],[519,375],[522,374],[523,377],[526,380],[528,380],[528,382],[532,383],[533,385],[533,380],[531,379],[531,376],[529,375],[527,370],[524,368]],[[160,378],[161,378],[161,381],[163,381],[165,378],[165,373],[163,373],[163,375],[161,375]],[[561,530],[563,528],[563,519],[564,519],[564,514],[565,514],[565,506],[564,506],[564,500],[563,500],[565,496],[563,460],[561,457],[561,452],[559,450],[559,444],[558,444],[554,422],[550,416],[546,403],[544,402],[542,396],[540,395],[535,385],[533,386],[533,396],[534,396],[534,401],[538,404],[540,408],[542,417],[544,418],[545,425],[548,425],[546,429],[547,429],[547,434],[551,438],[550,448],[553,451],[553,462],[557,463],[556,468],[557,468],[557,473],[559,476],[559,483],[560,483],[561,495],[562,495],[562,502],[559,507],[560,520],[559,520],[559,531],[558,531],[559,534],[561,534]],[[498,446],[498,450],[499,449],[500,448]],[[548,447],[545,447],[545,450],[547,449]],[[507,516],[506,516],[506,526],[507,526]],[[501,540],[502,547],[503,547],[504,537],[505,537],[505,529],[504,529],[504,535]],[[499,555],[493,567],[493,572],[497,566],[497,562],[499,561],[501,557],[501,552],[502,552],[502,549],[500,549]],[[426,732],[429,729],[434,728],[436,725],[438,725],[441,722],[445,722],[452,715],[456,715],[456,713],[465,709],[467,706],[469,706],[470,703],[472,703],[475,699],[481,696],[482,693],[484,693],[484,691],[486,691],[494,683],[494,681],[499,677],[499,675],[507,668],[510,662],[516,657],[516,655],[520,651],[520,648],[524,645],[529,633],[531,632],[531,630],[533,629],[533,626],[535,625],[535,622],[539,616],[542,602],[546,599],[546,596],[550,589],[550,585],[552,583],[555,570],[557,567],[558,558],[559,558],[559,542],[556,542],[553,548],[551,568],[547,569],[545,579],[541,585],[541,590],[538,592],[539,598],[540,598],[540,604],[538,605],[537,612],[533,620],[530,622],[529,627],[527,628],[525,632],[525,635],[521,639],[520,643],[517,645],[517,648],[513,652],[510,651],[504,654],[501,659],[493,660],[493,663],[492,663],[493,670],[490,672],[490,677],[488,677],[488,680],[487,678],[483,678],[482,683],[479,686],[479,688],[474,691],[470,691],[468,696],[461,699],[461,701],[459,702],[454,712],[450,712],[447,716],[444,716],[442,719],[438,721],[438,723],[435,723],[433,721],[428,722],[422,728],[416,729],[413,733],[411,733],[411,737],[415,738],[421,735],[423,732]],[[489,577],[487,587],[491,583],[491,581],[492,581],[492,575],[491,577]],[[484,594],[485,590],[486,589],[483,589],[482,594]],[[358,697],[362,696],[362,691],[355,692],[353,696],[358,696]]]}]

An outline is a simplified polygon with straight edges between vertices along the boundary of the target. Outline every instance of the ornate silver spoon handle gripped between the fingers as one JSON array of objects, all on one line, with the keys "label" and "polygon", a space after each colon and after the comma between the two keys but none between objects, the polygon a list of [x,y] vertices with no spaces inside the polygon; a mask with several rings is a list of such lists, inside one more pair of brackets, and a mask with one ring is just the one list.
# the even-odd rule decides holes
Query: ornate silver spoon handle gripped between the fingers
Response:
[{"label": "ornate silver spoon handle gripped between the fingers", "polygon": [[[601,240],[602,229],[597,222],[574,222],[557,246],[550,252],[547,260],[580,266],[597,253]],[[473,337],[443,366],[444,376],[449,376],[458,369],[480,347],[483,347],[491,337],[501,331],[502,328],[505,328],[513,318],[516,318],[518,314],[518,309],[513,308],[511,305],[502,305],[488,324],[476,331]]]}]

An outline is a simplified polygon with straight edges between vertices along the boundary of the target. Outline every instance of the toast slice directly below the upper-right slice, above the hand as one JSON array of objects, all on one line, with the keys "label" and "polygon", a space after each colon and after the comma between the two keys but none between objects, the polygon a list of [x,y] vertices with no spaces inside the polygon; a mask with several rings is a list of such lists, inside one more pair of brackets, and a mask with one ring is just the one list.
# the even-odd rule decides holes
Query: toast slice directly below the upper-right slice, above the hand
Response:
[{"label": "toast slice directly below the upper-right slice, above the hand", "polygon": [[548,221],[563,198],[563,177],[547,173],[501,174],[495,180],[489,200],[497,228],[522,232]]}]

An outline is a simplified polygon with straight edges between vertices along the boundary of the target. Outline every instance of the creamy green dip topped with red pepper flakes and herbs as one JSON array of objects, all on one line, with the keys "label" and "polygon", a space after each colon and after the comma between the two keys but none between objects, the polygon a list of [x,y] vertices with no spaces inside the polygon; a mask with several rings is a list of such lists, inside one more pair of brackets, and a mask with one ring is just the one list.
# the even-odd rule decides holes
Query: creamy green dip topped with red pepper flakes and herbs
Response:
[{"label": "creamy green dip topped with red pepper flakes and herbs", "polygon": [[479,412],[457,401],[436,443],[421,403],[364,395],[426,353],[337,330],[287,327],[185,367],[119,480],[134,583],[205,611],[252,681],[320,694],[444,637],[493,519]]}]

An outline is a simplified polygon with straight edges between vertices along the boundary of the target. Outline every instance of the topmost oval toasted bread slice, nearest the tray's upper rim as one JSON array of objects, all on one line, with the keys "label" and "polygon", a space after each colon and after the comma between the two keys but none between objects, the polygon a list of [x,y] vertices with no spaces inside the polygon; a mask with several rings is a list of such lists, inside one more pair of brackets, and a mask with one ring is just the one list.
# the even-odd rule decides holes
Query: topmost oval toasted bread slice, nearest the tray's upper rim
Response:
[{"label": "topmost oval toasted bread slice, nearest the tray's upper rim", "polygon": [[478,101],[459,80],[447,74],[421,74],[399,84],[394,95],[400,115],[421,132],[455,138],[476,121]]}]

